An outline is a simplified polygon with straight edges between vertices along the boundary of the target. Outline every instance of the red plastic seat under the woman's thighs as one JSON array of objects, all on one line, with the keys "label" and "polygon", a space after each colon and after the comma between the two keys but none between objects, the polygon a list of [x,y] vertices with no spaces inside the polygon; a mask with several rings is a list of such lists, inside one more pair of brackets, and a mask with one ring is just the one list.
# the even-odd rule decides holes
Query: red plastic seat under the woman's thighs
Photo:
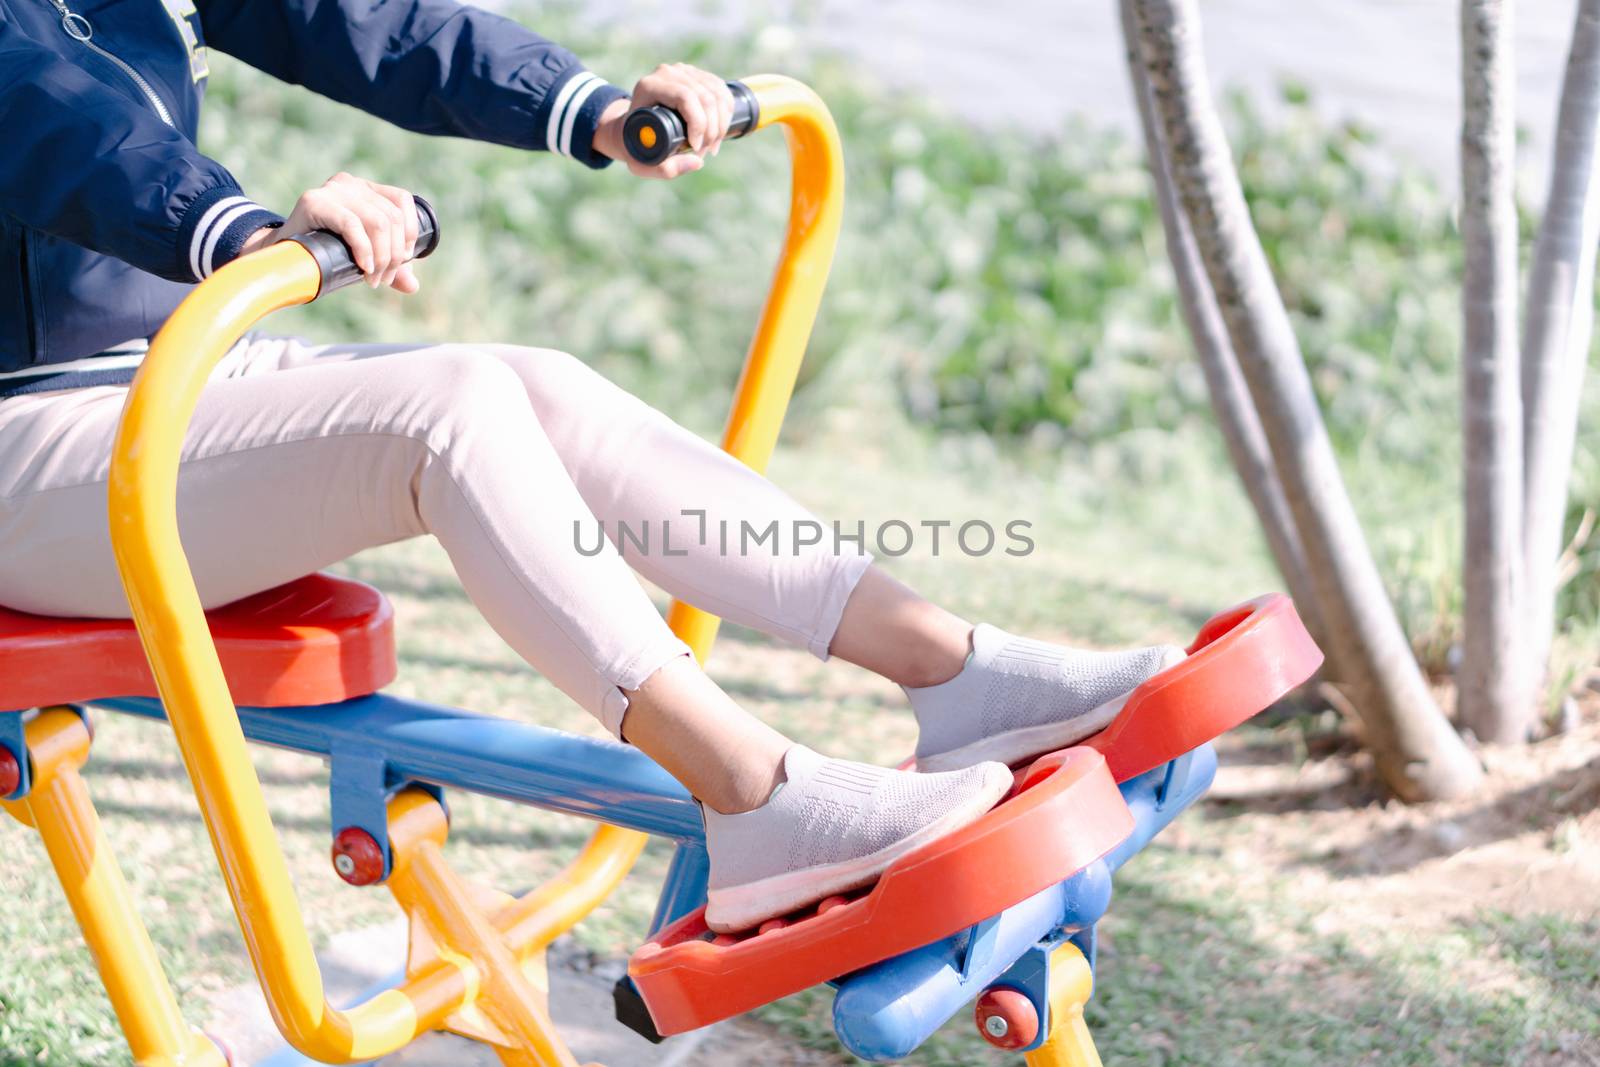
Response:
[{"label": "red plastic seat under the woman's thighs", "polygon": [[[334,704],[394,681],[394,609],[371,585],[312,574],[206,613],[234,702]],[[0,710],[155,696],[126,619],[0,608]]]}]

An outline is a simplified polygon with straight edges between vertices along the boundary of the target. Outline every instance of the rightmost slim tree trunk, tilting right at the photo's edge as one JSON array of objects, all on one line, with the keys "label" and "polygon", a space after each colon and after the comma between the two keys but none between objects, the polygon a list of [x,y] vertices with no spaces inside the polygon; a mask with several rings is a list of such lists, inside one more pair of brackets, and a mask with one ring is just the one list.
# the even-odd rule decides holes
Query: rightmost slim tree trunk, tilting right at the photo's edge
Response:
[{"label": "rightmost slim tree trunk, tilting right at the photo's edge", "polygon": [[1578,437],[1578,398],[1594,330],[1600,242],[1600,0],[1573,24],[1544,221],[1528,272],[1522,336],[1525,659],[1530,681],[1547,670],[1555,632],[1557,560]]}]

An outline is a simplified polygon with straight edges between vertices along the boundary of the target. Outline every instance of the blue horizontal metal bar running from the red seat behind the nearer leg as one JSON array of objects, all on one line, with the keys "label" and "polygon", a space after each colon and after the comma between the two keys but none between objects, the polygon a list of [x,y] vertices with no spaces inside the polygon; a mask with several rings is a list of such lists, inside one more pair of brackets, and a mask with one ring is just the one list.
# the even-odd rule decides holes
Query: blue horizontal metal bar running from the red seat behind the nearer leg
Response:
[{"label": "blue horizontal metal bar running from the red seat behind the nearer leg", "polygon": [[[96,701],[165,720],[160,701]],[[702,843],[688,792],[638,749],[386,693],[322,707],[242,707],[245,736],[330,757],[334,745],[381,755],[397,779],[499,797],[678,841]]]}]

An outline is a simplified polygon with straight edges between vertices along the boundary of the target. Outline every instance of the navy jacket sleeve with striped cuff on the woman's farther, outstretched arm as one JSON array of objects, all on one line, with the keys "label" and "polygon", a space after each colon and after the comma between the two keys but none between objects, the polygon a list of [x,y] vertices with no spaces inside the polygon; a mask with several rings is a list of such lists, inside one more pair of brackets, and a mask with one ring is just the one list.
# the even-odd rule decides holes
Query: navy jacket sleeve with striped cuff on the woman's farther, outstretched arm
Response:
[{"label": "navy jacket sleeve with striped cuff on the woman's farther, outstretched arm", "polygon": [[549,149],[600,168],[627,94],[533,30],[456,0],[200,0],[206,45],[416,133]]}]

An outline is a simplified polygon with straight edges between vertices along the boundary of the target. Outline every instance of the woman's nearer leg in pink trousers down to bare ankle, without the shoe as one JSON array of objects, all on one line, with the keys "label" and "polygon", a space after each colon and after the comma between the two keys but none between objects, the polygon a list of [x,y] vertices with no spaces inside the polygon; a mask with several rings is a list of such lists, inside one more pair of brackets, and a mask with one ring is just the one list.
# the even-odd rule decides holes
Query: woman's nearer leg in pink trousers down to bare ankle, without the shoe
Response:
[{"label": "woman's nearer leg in pink trousers down to bare ankle, without the shoe", "polygon": [[[122,398],[90,389],[0,403],[0,603],[126,616],[106,520]],[[714,806],[758,805],[787,742],[699,670],[645,685],[690,664],[688,649],[616,552],[574,550],[573,523],[589,518],[518,381],[477,354],[214,381],[179,478],[179,526],[206,606],[434,533],[472,601],[541,673],[613,733],[634,693],[651,736],[738,737],[677,769]]]}]

